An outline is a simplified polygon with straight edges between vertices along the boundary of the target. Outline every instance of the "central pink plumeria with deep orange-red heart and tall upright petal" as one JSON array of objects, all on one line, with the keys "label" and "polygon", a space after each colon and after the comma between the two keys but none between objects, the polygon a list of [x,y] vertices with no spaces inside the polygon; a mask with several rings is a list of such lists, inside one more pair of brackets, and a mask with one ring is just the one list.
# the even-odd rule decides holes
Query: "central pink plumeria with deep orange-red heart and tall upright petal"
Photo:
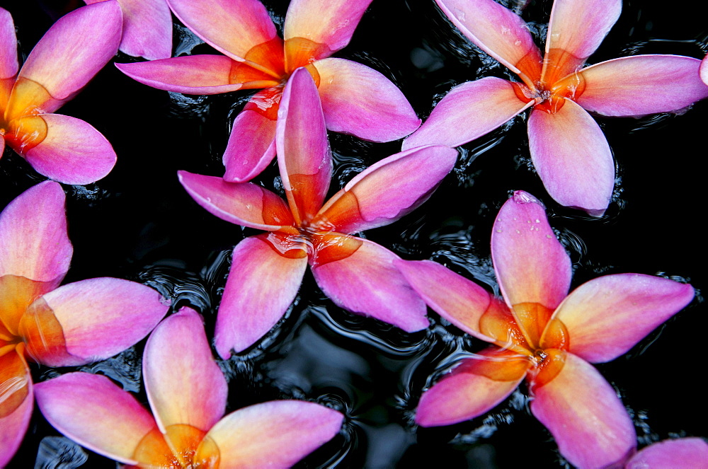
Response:
[{"label": "central pink plumeria with deep orange-red heart and tall upright petal", "polygon": [[276,139],[287,204],[252,183],[179,173],[187,192],[212,214],[268,231],[234,248],[216,324],[219,355],[250,347],[282,318],[308,262],[338,306],[408,332],[428,327],[425,303],[392,263],[399,257],[349,234],[392,223],[425,202],[455,166],[457,152],[424,146],[389,156],[323,204],[332,156],[317,88],[304,68],[283,91]]}]

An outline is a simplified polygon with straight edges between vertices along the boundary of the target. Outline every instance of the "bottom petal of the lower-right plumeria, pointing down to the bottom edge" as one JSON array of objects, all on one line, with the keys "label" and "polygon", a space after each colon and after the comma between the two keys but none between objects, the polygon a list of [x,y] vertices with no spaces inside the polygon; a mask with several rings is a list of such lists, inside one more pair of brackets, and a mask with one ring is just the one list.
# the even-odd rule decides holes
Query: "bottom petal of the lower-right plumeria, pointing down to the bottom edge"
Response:
[{"label": "bottom petal of the lower-right plumeria, pointing down to the bottom edge", "polygon": [[636,444],[636,434],[615,389],[587,361],[569,352],[556,351],[547,359],[551,357],[564,363],[550,381],[532,386],[532,414],[572,465],[622,463]]}]

